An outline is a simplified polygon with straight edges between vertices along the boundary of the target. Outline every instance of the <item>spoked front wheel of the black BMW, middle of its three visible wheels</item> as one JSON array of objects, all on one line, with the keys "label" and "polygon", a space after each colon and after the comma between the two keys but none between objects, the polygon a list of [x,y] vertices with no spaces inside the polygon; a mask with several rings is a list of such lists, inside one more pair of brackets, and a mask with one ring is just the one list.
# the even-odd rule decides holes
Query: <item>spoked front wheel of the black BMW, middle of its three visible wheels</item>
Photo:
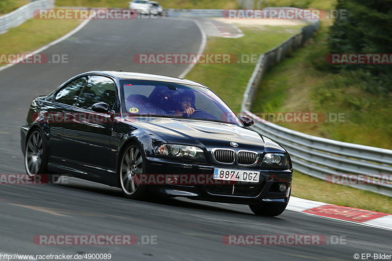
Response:
[{"label": "spoked front wheel of the black BMW, middle of its three visible wheels", "polygon": [[138,183],[138,177],[146,173],[146,156],[136,144],[129,144],[123,150],[119,166],[120,188],[127,198],[147,198],[147,186]]}]

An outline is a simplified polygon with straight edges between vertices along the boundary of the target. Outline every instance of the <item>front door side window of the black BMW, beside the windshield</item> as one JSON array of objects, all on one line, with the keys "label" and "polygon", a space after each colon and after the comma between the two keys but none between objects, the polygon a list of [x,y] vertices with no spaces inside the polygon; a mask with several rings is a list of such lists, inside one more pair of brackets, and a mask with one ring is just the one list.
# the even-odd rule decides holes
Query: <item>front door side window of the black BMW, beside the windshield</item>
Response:
[{"label": "front door side window of the black BMW, beside the windshield", "polygon": [[112,110],[116,102],[114,81],[108,77],[93,75],[88,80],[77,100],[77,107],[91,110],[91,106],[97,102],[109,104]]}]

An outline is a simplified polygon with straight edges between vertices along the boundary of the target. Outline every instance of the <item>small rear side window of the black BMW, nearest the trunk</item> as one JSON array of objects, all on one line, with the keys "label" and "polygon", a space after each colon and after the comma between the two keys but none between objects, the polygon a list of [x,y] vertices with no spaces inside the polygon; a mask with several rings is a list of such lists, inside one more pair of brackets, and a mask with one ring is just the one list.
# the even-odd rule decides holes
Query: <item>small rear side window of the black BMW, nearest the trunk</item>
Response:
[{"label": "small rear side window of the black BMW, nearest the trunk", "polygon": [[87,77],[80,77],[76,80],[73,80],[57,92],[56,96],[54,97],[54,101],[73,105],[76,102],[80,91],[86,85],[86,82]]}]

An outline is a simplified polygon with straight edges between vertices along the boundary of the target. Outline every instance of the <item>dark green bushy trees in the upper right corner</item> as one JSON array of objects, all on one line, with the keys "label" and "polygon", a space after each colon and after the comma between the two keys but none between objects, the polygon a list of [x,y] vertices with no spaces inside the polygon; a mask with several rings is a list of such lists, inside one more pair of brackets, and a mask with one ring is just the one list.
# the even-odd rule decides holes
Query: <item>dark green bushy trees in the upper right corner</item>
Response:
[{"label": "dark green bushy trees in the upper right corner", "polygon": [[[338,0],[347,19],[337,19],[328,38],[332,53],[392,53],[391,0]],[[335,65],[340,71],[360,71],[372,94],[392,92],[392,65]]]}]

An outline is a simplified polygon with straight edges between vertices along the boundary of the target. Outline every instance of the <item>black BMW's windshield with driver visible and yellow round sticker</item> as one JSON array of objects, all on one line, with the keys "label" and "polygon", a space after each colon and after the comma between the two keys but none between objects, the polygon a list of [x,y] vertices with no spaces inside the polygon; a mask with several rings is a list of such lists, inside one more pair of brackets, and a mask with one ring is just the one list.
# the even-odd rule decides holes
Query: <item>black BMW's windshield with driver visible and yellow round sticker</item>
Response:
[{"label": "black BMW's windshield with driver visible and yellow round sticker", "polygon": [[200,119],[242,125],[208,88],[160,81],[122,81],[123,112],[128,116]]}]

